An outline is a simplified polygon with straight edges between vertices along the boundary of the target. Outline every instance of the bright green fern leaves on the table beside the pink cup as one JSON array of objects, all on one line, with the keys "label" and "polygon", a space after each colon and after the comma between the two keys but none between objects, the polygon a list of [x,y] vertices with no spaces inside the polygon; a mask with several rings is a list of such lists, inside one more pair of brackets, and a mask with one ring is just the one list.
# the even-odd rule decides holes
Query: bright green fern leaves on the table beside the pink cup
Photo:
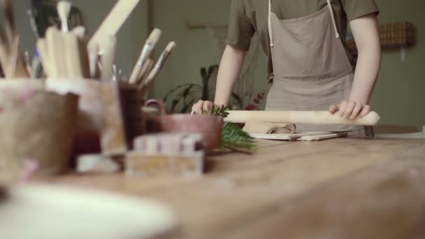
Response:
[{"label": "bright green fern leaves on the table beside the pink cup", "polygon": [[[227,117],[229,115],[228,110],[230,110],[229,107],[215,106],[209,112],[204,111],[203,114]],[[250,152],[257,149],[254,138],[243,131],[243,129],[240,129],[238,124],[233,124],[231,122],[224,122],[219,147],[230,150],[248,150]]]}]

